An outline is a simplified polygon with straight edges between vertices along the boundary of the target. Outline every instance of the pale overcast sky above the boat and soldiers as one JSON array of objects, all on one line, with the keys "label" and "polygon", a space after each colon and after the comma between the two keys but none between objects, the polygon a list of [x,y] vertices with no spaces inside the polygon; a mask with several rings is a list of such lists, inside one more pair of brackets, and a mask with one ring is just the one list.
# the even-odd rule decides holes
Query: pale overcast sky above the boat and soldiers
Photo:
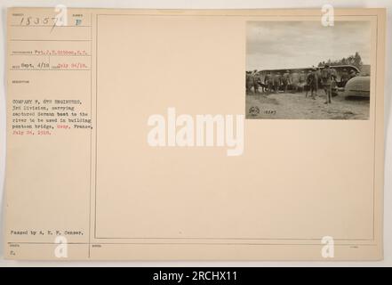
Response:
[{"label": "pale overcast sky above the boat and soldiers", "polygon": [[246,28],[246,69],[291,69],[340,60],[358,52],[370,63],[370,21],[250,21]]}]

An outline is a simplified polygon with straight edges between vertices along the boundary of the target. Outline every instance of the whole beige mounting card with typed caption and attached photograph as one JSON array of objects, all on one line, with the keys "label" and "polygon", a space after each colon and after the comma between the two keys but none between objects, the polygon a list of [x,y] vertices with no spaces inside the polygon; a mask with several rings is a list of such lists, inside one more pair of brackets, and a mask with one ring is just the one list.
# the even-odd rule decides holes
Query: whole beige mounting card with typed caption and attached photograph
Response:
[{"label": "whole beige mounting card with typed caption and attached photograph", "polygon": [[382,259],[384,9],[7,17],[7,258]]}]

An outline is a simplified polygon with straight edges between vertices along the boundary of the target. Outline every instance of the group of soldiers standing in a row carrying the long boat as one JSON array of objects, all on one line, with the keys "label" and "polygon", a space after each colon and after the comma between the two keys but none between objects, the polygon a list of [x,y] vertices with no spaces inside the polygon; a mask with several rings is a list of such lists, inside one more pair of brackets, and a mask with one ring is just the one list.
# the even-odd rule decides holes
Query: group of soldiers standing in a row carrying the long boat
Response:
[{"label": "group of soldiers standing in a row carrying the long boat", "polygon": [[[282,74],[283,73],[283,74]],[[336,83],[337,72],[332,69],[329,64],[326,64],[323,69],[312,68],[305,73],[304,70],[286,70],[285,72],[271,72],[267,71],[264,78],[261,77],[258,70],[246,72],[246,93],[247,94],[262,94],[278,93],[282,89],[287,93],[290,86],[292,93],[302,93],[306,89],[305,97],[316,100],[319,88],[324,89],[325,103],[332,103],[332,83]],[[340,77],[340,83],[346,83],[351,77],[355,77],[356,73],[350,72],[343,74]]]}]

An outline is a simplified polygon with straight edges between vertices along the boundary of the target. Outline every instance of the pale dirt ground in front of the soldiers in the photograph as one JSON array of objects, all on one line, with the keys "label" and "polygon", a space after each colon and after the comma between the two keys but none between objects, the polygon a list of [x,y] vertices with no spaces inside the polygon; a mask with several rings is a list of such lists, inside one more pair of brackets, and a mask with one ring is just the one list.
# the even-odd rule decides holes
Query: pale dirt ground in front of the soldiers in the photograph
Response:
[{"label": "pale dirt ground in front of the soldiers in the photograph", "polygon": [[303,93],[247,94],[246,118],[296,119],[368,119],[370,102],[367,98],[332,97],[332,104],[324,104],[324,91],[316,100]]}]

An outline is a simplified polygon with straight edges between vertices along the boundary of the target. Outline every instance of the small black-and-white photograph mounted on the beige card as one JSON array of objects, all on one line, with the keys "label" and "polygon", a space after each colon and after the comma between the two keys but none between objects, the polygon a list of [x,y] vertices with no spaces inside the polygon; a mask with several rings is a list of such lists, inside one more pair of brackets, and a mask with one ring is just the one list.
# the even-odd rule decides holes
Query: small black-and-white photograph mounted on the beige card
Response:
[{"label": "small black-and-white photograph mounted on the beige card", "polygon": [[370,21],[248,21],[246,118],[369,119]]}]

